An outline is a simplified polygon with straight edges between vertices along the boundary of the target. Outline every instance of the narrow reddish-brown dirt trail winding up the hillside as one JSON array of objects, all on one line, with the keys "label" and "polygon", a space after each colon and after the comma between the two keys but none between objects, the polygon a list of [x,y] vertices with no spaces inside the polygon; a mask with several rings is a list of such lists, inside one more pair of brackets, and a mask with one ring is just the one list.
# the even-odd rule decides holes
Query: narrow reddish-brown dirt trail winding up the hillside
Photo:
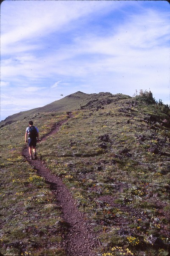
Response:
[{"label": "narrow reddish-brown dirt trail winding up the hillside", "polygon": [[[68,117],[72,117],[71,112],[68,113]],[[68,119],[57,123],[47,136],[58,132],[59,127],[67,121]],[[42,138],[42,140],[44,141],[47,136]],[[22,154],[37,170],[37,173],[44,177],[45,181],[50,184],[51,190],[53,190],[56,196],[57,203],[61,207],[63,213],[62,219],[68,223],[67,235],[64,237],[62,243],[67,256],[95,256],[96,254],[93,251],[95,247],[98,247],[100,242],[95,238],[95,234],[92,232],[92,226],[86,219],[86,215],[78,211],[76,202],[67,187],[62,183],[61,178],[50,173],[50,170],[45,166],[43,161],[39,159],[30,160],[28,147],[23,149]]]}]

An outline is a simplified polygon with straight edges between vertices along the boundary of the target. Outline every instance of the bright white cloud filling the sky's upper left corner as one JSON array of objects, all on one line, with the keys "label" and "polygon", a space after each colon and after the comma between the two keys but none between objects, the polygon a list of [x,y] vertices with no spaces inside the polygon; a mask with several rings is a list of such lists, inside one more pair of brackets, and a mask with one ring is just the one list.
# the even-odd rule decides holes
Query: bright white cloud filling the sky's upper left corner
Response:
[{"label": "bright white cloud filling the sky's upper left corner", "polygon": [[[33,47],[29,45],[32,38],[41,38],[61,29],[67,30],[72,21],[100,12],[109,5],[105,1],[98,1],[98,4],[92,1],[4,1],[1,5],[1,49],[4,54],[26,50],[26,45],[22,45],[24,40],[28,40],[27,46],[30,49]],[[114,9],[120,5],[122,3],[115,3]],[[9,18],[11,22],[8,22]],[[9,46],[17,46],[18,43],[19,47],[10,49]]]}]

